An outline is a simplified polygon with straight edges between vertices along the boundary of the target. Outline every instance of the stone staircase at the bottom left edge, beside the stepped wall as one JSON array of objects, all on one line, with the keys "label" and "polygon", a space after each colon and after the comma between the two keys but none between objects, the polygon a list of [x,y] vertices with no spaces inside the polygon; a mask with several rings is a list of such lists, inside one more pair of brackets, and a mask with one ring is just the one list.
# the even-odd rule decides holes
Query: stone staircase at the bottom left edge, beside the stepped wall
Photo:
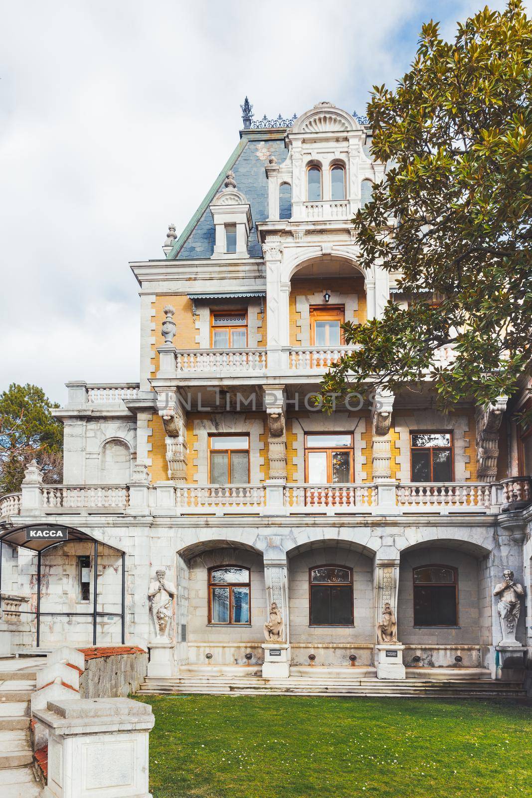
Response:
[{"label": "stone staircase at the bottom left edge, beside the stepped wall", "polygon": [[37,670],[21,659],[0,660],[0,796],[37,798],[41,784],[33,772],[30,697]]}]

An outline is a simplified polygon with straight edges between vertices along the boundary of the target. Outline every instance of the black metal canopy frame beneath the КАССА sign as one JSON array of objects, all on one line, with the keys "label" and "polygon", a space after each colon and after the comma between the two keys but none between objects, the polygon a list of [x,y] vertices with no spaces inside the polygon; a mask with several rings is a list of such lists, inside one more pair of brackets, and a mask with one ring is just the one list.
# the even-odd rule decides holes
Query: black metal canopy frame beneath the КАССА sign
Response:
[{"label": "black metal canopy frame beneath the \u041a\u0410\u0421\u0421\u0410 sign", "polygon": [[[10,535],[13,535],[14,532],[17,531],[25,531],[26,527],[33,527],[34,524],[26,524],[24,527],[15,527],[12,529],[8,529],[2,534],[0,534],[0,610],[2,609],[2,554],[3,554],[3,543],[4,539],[8,538]],[[54,527],[57,527],[58,524],[53,524]],[[97,645],[97,619],[99,615],[112,615],[113,617],[120,618],[120,627],[121,627],[121,642],[122,646],[125,643],[125,552],[120,551],[115,546],[109,545],[109,543],[104,543],[104,546],[108,546],[112,548],[114,551],[120,552],[121,559],[122,559],[122,606],[121,612],[98,612],[97,610],[97,588],[98,588],[98,541],[96,538],[93,538],[91,535],[87,535],[86,532],[82,532],[81,530],[73,530],[72,527],[65,527],[65,529],[69,529],[71,531],[77,532],[77,536],[74,539],[81,539],[87,540],[93,543],[93,552],[94,552],[94,577],[93,577],[93,611],[92,612],[41,612],[41,555],[43,551],[48,551],[50,548],[55,546],[63,546],[65,543],[69,543],[69,540],[60,540],[54,543],[49,543],[48,546],[41,547],[36,549],[35,547],[24,545],[24,543],[10,543],[9,540],[6,540],[6,543],[10,543],[10,545],[17,546],[19,548],[28,548],[30,551],[37,552],[37,610],[18,610],[18,612],[22,615],[35,615],[37,618],[37,648],[41,642],[41,618],[45,615],[60,615],[60,616],[70,616],[70,615],[80,615],[81,617],[90,617],[93,618],[93,646]]]}]

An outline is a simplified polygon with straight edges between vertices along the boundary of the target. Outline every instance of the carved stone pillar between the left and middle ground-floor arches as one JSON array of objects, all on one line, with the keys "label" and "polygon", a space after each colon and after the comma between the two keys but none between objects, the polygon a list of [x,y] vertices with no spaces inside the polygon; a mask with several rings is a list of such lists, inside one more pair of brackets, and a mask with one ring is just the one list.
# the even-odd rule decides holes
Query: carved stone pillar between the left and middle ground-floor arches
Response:
[{"label": "carved stone pillar between the left and middle ground-floor arches", "polygon": [[271,605],[276,604],[282,617],[283,630],[278,640],[270,639],[262,644],[264,650],[262,676],[288,678],[290,676],[288,561],[280,540],[270,539],[270,546],[264,552],[264,582],[266,584],[265,622],[270,619]]}]

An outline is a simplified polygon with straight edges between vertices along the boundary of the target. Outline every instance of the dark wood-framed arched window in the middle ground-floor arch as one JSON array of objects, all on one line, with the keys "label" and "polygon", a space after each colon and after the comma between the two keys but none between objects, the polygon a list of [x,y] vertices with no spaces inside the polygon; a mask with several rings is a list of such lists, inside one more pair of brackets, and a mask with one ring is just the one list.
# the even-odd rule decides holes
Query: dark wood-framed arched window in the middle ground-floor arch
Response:
[{"label": "dark wood-framed arched window in the middle ground-floor arch", "polygon": [[309,568],[310,626],[353,626],[353,571],[337,565]]}]

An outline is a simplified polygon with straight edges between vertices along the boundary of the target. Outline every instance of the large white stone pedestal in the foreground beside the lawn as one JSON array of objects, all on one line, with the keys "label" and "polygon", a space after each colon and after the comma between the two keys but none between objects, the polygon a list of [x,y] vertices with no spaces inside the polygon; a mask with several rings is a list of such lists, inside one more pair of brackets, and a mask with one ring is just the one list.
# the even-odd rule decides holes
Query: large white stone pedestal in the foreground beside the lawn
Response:
[{"label": "large white stone pedestal in the foreground beside the lawn", "polygon": [[152,798],[151,706],[131,698],[49,701],[34,715],[48,730],[48,785],[43,796]]}]

